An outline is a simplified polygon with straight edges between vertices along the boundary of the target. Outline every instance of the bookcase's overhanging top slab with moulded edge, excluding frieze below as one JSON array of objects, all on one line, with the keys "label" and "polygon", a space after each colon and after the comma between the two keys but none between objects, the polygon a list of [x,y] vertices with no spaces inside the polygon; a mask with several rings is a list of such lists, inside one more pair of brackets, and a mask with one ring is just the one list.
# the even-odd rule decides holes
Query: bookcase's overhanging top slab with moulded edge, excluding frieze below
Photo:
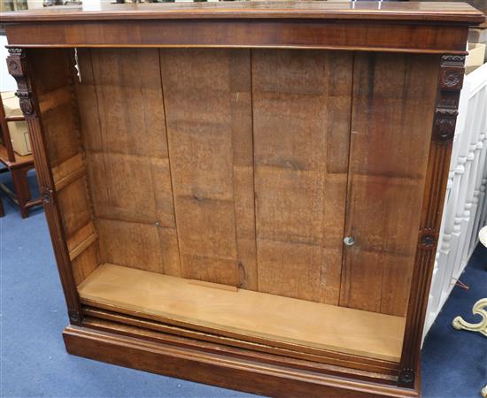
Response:
[{"label": "bookcase's overhanging top slab with moulded edge, excluding frieze below", "polygon": [[101,4],[4,12],[2,22],[134,19],[359,19],[477,24],[483,13],[465,3],[249,1]]}]

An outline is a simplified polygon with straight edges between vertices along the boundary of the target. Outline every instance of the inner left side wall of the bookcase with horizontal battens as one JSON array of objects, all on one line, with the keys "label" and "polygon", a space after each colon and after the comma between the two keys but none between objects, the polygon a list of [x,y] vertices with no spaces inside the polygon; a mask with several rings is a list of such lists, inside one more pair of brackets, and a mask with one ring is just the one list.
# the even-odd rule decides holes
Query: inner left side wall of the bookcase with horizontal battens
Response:
[{"label": "inner left side wall of the bookcase with horizontal battens", "polygon": [[[73,52],[33,50],[35,96],[76,284],[97,267],[97,234],[86,178],[85,153],[73,92]],[[52,62],[56,59],[57,62]],[[74,250],[74,251],[73,251]]]}]

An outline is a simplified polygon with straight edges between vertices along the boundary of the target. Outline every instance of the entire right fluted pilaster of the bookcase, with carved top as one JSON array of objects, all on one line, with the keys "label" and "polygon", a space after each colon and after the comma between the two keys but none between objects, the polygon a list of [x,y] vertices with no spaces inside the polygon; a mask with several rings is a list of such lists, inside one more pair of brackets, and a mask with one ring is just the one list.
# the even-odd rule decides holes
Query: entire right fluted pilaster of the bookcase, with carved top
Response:
[{"label": "entire right fluted pilaster of the bookcase, with carved top", "polygon": [[463,84],[465,57],[444,55],[438,73],[437,103],[429,146],[421,226],[414,260],[398,386],[412,387],[421,354],[421,337],[437,253],[453,136]]}]

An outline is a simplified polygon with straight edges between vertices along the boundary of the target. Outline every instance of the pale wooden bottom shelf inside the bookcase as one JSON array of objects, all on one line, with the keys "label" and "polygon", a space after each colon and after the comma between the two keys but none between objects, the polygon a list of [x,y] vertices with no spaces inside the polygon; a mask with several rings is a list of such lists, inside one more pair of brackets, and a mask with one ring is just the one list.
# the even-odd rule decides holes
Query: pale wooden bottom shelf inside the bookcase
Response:
[{"label": "pale wooden bottom shelf inside the bookcase", "polygon": [[406,318],[100,265],[81,302],[241,340],[277,341],[399,362]]}]

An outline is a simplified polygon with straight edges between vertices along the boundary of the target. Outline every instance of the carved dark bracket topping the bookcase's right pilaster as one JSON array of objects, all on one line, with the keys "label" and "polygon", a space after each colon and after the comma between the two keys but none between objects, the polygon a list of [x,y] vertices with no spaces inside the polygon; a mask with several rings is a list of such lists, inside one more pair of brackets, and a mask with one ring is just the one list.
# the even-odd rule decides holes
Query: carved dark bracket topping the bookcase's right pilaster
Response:
[{"label": "carved dark bracket topping the bookcase's right pilaster", "polygon": [[438,143],[452,142],[458,115],[460,89],[463,85],[465,56],[445,55],[441,57],[438,81],[437,107],[433,140]]}]

